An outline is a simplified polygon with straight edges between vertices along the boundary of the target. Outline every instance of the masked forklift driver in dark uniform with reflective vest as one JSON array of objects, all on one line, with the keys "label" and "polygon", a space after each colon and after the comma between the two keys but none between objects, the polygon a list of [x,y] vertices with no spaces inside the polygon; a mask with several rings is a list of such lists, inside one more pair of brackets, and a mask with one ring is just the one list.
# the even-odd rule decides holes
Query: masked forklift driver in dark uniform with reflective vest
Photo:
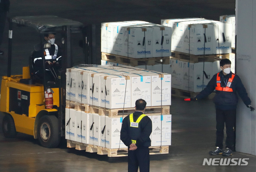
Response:
[{"label": "masked forklift driver in dark uniform with reflective vest", "polygon": [[[44,34],[45,42],[43,42],[43,46],[45,43],[50,44],[50,48],[40,47],[40,50],[32,53],[31,59],[31,76],[32,78],[43,84],[44,80],[44,67],[43,67],[43,58],[45,56],[45,79],[46,82],[54,82],[58,80],[58,71],[61,69],[61,50],[60,46],[54,44],[55,42],[55,33],[46,33]],[[49,47],[49,46],[48,46]]]}]

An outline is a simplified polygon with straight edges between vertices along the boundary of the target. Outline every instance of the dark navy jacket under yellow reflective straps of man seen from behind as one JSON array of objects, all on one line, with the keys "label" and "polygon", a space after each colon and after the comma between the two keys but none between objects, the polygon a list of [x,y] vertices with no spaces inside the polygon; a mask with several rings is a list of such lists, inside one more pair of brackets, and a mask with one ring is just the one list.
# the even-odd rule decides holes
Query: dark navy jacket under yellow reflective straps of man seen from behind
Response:
[{"label": "dark navy jacket under yellow reflective straps of man seen from behind", "polygon": [[[143,113],[140,111],[135,111],[133,113],[133,120],[136,121],[138,119],[138,117],[142,114]],[[129,119],[129,115],[128,115],[123,119],[121,135],[120,135],[121,141],[127,147],[129,147],[130,144],[132,144],[132,139],[129,134],[129,127],[130,127],[130,119]],[[141,130],[141,134],[140,134],[140,137],[136,141],[136,146],[137,147],[143,147],[143,146],[149,147],[151,144],[151,140],[150,140],[149,136],[152,132],[151,119],[148,116],[144,116],[142,118],[142,120],[139,122],[139,127]]]}]

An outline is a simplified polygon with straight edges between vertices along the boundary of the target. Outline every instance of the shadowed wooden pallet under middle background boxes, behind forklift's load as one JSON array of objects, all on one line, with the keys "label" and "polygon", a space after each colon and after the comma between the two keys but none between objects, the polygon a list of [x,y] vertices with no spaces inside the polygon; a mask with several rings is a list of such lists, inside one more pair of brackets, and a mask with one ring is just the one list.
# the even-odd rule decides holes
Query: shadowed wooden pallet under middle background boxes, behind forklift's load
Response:
[{"label": "shadowed wooden pallet under middle background boxes, behind forklift's load", "polygon": [[170,57],[152,57],[152,58],[130,58],[118,56],[108,53],[101,53],[101,59],[113,63],[125,64],[129,66],[138,65],[155,65],[155,64],[170,64]]}]

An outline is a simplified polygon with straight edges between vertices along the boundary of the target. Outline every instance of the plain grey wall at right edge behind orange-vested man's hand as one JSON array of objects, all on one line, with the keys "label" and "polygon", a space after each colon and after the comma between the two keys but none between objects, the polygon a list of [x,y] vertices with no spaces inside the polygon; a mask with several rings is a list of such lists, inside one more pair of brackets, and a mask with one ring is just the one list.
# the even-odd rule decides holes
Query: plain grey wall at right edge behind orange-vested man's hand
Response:
[{"label": "plain grey wall at right edge behind orange-vested man's hand", "polygon": [[[256,1],[236,0],[236,74],[256,107]],[[239,101],[236,115],[236,151],[256,155],[256,111]]]}]

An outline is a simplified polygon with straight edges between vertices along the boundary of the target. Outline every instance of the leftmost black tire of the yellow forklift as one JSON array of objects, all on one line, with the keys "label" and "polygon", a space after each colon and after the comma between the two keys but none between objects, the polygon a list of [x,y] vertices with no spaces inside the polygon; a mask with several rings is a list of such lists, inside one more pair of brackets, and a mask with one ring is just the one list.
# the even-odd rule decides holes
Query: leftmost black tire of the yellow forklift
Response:
[{"label": "leftmost black tire of the yellow forklift", "polygon": [[2,130],[6,138],[14,138],[17,135],[14,120],[11,115],[6,114],[2,120]]}]

